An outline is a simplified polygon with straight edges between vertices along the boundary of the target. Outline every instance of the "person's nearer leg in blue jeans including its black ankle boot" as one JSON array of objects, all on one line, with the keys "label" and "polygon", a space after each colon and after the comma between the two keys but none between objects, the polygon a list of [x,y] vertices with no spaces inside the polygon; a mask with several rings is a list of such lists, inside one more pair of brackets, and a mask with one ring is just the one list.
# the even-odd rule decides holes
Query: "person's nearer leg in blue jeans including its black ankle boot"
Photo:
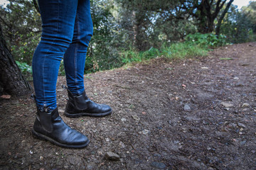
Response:
[{"label": "person's nearer leg in blue jeans including its black ankle boot", "polygon": [[38,4],[43,33],[33,56],[37,116],[32,134],[60,147],[86,147],[87,137],[60,118],[55,94],[60,60],[73,38],[78,0],[38,0]]}]

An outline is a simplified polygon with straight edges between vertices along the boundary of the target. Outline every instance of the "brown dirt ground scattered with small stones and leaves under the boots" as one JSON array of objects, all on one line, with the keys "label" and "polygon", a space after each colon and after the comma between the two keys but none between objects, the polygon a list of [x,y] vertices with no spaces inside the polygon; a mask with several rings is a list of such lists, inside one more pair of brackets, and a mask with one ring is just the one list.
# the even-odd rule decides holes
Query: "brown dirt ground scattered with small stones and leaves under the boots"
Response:
[{"label": "brown dirt ground scattered with small stones and leaves under the boots", "polygon": [[256,42],[87,74],[85,82],[91,99],[114,110],[66,118],[59,77],[60,115],[90,138],[85,149],[33,138],[33,101],[1,99],[0,169],[256,169]]}]

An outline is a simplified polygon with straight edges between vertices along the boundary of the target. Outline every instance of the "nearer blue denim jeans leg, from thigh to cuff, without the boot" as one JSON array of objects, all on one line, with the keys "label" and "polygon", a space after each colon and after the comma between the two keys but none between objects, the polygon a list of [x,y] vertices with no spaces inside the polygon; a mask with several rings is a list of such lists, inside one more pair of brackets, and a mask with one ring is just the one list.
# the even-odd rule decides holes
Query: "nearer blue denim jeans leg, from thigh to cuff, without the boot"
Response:
[{"label": "nearer blue denim jeans leg, from thigh to cuff, without the boot", "polygon": [[73,38],[78,0],[38,0],[42,18],[41,41],[33,55],[33,84],[38,108],[56,108],[60,61]]}]

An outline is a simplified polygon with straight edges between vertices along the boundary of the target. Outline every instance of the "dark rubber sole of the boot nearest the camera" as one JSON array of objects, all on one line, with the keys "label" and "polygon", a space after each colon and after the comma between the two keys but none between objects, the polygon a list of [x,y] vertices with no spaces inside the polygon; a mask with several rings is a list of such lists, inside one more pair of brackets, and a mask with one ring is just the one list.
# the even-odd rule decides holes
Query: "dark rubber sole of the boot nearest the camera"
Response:
[{"label": "dark rubber sole of the boot nearest the camera", "polygon": [[57,145],[59,147],[66,147],[66,148],[73,148],[73,149],[78,149],[78,148],[83,148],[83,147],[87,147],[87,145],[90,143],[90,140],[87,140],[87,142],[85,144],[82,144],[82,145],[68,145],[68,144],[62,144],[60,142],[57,142],[55,140],[53,140],[52,138],[46,136],[46,135],[43,135],[41,133],[38,133],[36,132],[35,130],[32,129],[32,135],[33,137],[36,137],[40,140],[46,140],[46,141],[49,141],[51,143],[53,143],[54,145]]}]

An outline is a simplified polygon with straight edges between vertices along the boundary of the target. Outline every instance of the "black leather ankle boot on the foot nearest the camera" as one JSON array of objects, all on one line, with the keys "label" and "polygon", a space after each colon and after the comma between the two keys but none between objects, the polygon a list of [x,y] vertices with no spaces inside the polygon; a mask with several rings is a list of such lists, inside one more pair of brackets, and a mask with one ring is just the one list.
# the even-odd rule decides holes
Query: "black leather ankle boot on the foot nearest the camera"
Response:
[{"label": "black leather ankle boot on the foot nearest the camera", "polygon": [[90,142],[85,135],[73,130],[63,122],[58,114],[58,108],[51,113],[38,110],[32,134],[60,147],[82,148]]}]

